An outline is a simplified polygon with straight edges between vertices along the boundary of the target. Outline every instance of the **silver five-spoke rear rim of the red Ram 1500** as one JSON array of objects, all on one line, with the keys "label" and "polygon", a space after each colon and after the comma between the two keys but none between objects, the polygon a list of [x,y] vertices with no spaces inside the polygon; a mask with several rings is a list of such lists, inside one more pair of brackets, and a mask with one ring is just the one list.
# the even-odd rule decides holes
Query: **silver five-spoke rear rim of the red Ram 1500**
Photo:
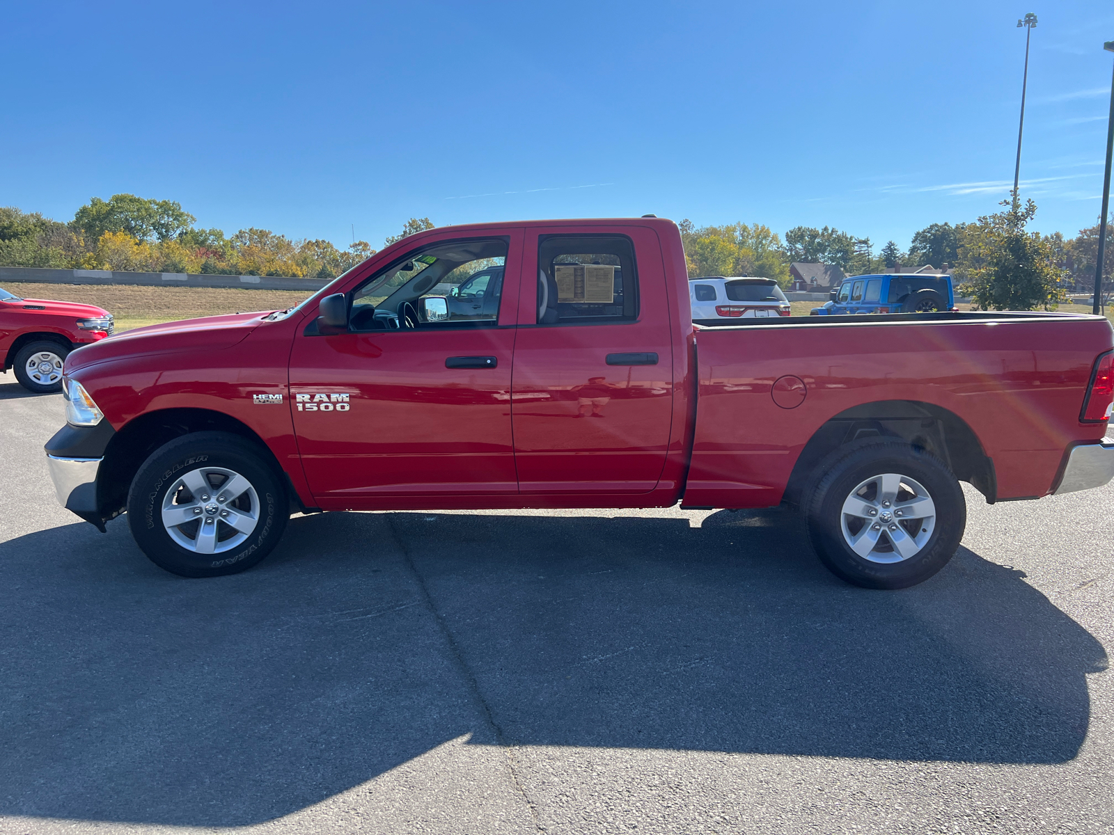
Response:
[{"label": "silver five-spoke rear rim of the red Ram 1500", "polygon": [[843,501],[840,529],[848,547],[862,559],[903,562],[931,539],[936,504],[928,490],[908,475],[871,475]]}]

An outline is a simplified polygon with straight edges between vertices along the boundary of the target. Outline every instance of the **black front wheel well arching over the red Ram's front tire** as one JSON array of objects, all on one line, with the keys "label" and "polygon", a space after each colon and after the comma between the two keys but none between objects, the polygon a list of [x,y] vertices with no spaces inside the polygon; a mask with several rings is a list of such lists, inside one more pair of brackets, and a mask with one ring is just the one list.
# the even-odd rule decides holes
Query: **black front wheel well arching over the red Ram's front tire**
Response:
[{"label": "black front wheel well arching over the red Ram's front tire", "polygon": [[290,501],[297,504],[297,494],[289,489],[287,477],[271,448],[247,425],[207,409],[166,409],[139,415],[108,442],[97,474],[97,507],[101,515],[108,520],[124,512],[131,480],[152,452],[175,438],[202,431],[228,432],[253,443],[280,483],[287,487]]}]

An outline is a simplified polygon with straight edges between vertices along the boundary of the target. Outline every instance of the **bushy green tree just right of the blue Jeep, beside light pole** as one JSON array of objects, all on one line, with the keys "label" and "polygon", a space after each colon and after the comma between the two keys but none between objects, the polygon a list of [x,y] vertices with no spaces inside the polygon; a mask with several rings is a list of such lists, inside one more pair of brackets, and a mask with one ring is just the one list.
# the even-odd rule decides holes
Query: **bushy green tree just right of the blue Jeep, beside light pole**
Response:
[{"label": "bushy green tree just right of the blue Jeep, beside light pole", "polygon": [[1067,301],[1061,286],[1064,271],[1056,266],[1049,242],[1025,227],[1037,206],[1003,200],[1009,208],[966,224],[959,234],[960,292],[984,310],[1052,310]]}]

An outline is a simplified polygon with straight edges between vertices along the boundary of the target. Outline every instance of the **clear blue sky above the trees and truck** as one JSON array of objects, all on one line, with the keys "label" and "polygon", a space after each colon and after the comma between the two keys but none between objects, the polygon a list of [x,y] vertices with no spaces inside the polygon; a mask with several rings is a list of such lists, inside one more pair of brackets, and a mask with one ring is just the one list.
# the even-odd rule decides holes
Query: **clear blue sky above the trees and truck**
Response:
[{"label": "clear blue sky above the trees and truck", "polygon": [[1006,196],[1028,11],[1022,194],[1074,235],[1100,212],[1108,2],[7,0],[0,205],[128,191],[341,245],[655,213],[903,248]]}]

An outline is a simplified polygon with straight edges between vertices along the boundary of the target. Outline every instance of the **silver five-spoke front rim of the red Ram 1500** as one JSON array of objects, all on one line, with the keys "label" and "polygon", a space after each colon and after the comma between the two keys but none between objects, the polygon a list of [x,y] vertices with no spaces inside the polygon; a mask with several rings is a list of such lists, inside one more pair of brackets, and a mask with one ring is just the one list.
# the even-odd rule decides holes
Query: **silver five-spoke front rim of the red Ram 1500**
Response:
[{"label": "silver five-spoke front rim of the red Ram 1500", "polygon": [[223,553],[252,536],[260,521],[260,497],[234,470],[202,466],[170,485],[162,515],[167,534],[187,551]]}]

